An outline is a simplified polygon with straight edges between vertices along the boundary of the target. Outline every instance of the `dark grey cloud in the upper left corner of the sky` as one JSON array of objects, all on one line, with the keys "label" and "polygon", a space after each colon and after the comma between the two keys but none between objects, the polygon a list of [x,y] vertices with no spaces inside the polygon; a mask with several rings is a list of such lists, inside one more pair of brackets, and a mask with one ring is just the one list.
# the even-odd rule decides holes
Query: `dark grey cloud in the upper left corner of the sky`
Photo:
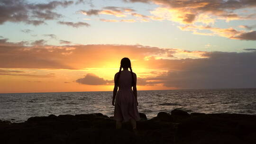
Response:
[{"label": "dark grey cloud in the upper left corner of the sky", "polygon": [[50,1],[48,3],[27,3],[25,0],[2,0],[0,2],[0,25],[5,22],[23,22],[38,26],[44,20],[60,18],[62,15],[53,12],[57,7],[67,7],[73,1]]}]

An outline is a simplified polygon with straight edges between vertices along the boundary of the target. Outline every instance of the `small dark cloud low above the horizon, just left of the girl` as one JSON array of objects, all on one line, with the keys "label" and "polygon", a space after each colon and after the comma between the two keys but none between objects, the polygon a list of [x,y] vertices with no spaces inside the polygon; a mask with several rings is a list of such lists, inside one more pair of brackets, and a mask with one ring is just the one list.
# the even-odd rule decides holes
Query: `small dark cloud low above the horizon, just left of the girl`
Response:
[{"label": "small dark cloud low above the horizon, just left of the girl", "polygon": [[93,73],[88,73],[84,78],[77,79],[76,82],[87,85],[106,85],[113,83],[113,81],[104,80]]}]

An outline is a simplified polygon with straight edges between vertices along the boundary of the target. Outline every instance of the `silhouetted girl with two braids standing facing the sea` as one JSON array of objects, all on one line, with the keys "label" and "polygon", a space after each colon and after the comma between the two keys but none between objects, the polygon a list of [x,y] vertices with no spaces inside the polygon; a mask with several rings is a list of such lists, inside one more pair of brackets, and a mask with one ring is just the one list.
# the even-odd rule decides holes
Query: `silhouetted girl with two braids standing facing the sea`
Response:
[{"label": "silhouetted girl with two braids standing facing the sea", "polygon": [[[123,71],[121,71],[122,68]],[[131,62],[127,57],[121,60],[121,66],[119,72],[115,74],[114,81],[112,105],[115,106],[116,128],[121,128],[122,122],[130,121],[133,130],[137,132],[136,120],[140,119],[137,109],[137,76],[132,72]]]}]

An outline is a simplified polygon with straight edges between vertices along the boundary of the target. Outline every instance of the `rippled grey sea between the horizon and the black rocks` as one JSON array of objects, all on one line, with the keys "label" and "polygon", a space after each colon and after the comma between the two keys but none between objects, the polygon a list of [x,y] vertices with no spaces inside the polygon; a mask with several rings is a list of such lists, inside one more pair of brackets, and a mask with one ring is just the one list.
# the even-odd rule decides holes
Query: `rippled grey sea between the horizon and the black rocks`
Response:
[{"label": "rippled grey sea between the horizon and the black rocks", "polygon": [[[113,116],[112,91],[0,94],[0,119],[24,122],[29,117],[102,113]],[[256,89],[142,90],[138,111],[148,118],[180,108],[188,113],[256,115]]]}]

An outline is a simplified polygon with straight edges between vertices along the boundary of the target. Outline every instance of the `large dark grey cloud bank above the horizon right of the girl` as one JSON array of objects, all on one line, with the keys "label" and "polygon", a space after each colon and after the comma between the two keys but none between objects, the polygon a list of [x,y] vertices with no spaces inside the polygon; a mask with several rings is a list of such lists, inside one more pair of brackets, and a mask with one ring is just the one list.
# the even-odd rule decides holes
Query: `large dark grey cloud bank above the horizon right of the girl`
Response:
[{"label": "large dark grey cloud bank above the horizon right of the girl", "polygon": [[[146,80],[178,89],[255,88],[256,51],[250,53],[209,52],[208,58],[155,60],[169,69]],[[147,84],[147,82],[144,82]]]}]

